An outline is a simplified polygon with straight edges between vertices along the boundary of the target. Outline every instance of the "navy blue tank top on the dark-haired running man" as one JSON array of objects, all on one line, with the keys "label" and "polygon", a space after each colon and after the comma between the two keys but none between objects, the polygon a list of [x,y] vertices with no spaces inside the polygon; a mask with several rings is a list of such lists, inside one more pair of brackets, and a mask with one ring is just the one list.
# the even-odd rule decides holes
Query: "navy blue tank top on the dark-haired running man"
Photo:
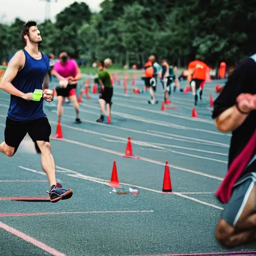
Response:
[{"label": "navy blue tank top on the dark-haired running man", "polygon": [[[17,72],[12,84],[23,93],[33,92],[34,89],[42,89],[42,83],[47,70],[49,59],[42,54],[41,59],[35,59],[22,49],[25,54],[24,67]],[[43,112],[43,98],[40,101],[28,101],[21,97],[10,95],[10,106],[7,116],[15,121],[29,121],[46,117]]]}]

